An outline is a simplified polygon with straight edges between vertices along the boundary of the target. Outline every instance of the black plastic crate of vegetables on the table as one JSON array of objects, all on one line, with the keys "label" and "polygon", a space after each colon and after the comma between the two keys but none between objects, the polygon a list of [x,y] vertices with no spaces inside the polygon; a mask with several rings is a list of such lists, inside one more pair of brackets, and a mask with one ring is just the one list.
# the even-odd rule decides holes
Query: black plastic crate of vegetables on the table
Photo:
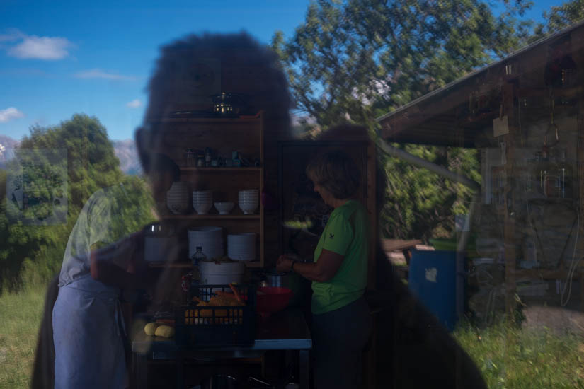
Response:
[{"label": "black plastic crate of vegetables on the table", "polygon": [[[256,288],[237,285],[245,306],[197,306],[175,308],[175,342],[188,347],[245,346],[256,339]],[[231,291],[229,285],[191,287],[191,296],[209,301],[215,291]]]}]

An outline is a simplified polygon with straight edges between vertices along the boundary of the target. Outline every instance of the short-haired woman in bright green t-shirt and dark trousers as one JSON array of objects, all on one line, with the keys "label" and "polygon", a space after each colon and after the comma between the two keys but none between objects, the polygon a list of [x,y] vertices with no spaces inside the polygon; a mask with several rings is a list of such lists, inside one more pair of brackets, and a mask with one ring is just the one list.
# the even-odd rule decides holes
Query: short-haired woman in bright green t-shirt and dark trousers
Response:
[{"label": "short-haired woman in bright green t-shirt and dark trousers", "polygon": [[312,339],[317,389],[359,388],[361,353],[371,319],[363,293],[367,286],[370,221],[355,199],[360,172],[343,151],[330,151],[307,166],[314,191],[334,208],[324,228],[314,262],[281,255],[280,272],[294,271],[312,281]]}]

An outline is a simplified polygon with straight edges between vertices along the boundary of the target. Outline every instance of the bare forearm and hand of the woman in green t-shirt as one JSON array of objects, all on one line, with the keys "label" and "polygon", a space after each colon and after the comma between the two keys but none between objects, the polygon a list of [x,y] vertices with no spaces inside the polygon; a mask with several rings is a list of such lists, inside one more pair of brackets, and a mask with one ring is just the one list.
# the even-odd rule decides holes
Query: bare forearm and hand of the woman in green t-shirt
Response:
[{"label": "bare forearm and hand of the woman in green t-shirt", "polygon": [[323,249],[319,260],[311,263],[293,262],[286,255],[281,255],[277,262],[279,272],[290,272],[294,263],[294,272],[311,281],[326,282],[331,280],[343,264],[344,255]]}]

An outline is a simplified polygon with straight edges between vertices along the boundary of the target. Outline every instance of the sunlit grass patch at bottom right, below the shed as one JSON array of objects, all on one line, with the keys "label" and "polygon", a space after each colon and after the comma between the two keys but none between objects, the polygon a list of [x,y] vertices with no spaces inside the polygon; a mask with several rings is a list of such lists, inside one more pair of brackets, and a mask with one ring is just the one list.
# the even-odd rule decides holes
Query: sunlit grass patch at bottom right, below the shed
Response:
[{"label": "sunlit grass patch at bottom right, below the shed", "polygon": [[454,336],[479,366],[490,389],[584,388],[584,339],[549,330],[468,325]]}]

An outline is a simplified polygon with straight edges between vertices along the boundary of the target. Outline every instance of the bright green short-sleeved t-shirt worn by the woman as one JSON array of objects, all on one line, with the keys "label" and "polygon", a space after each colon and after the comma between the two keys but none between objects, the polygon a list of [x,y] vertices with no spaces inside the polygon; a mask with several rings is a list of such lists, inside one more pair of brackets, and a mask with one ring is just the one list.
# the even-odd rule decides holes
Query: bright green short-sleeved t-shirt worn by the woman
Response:
[{"label": "bright green short-sleeved t-shirt worn by the woman", "polygon": [[326,282],[312,282],[312,313],[319,315],[342,308],[360,298],[367,286],[369,257],[369,216],[367,209],[349,200],[331,213],[314,250],[314,262],[322,249],[343,255],[335,276]]}]

